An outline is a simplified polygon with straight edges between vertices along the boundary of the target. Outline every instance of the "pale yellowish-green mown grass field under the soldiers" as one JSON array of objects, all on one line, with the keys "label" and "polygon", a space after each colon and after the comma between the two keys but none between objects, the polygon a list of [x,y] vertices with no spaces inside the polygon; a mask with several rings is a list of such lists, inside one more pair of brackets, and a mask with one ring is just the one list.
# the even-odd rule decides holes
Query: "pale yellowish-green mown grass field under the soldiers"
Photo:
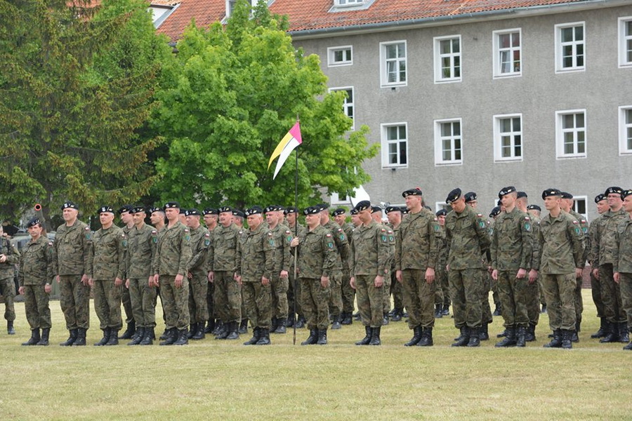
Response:
[{"label": "pale yellowish-green mown grass field under the soldiers", "polygon": [[[185,347],[59,347],[67,338],[51,302],[51,346],[29,338],[24,305],[17,335],[0,330],[0,420],[630,420],[632,353],[599,344],[598,319],[584,290],[584,324],[572,351],[544,349],[548,318],[524,349],[449,345],[452,319],[437,319],[435,346],[403,347],[403,322],[381,347],[356,347],[360,323],[329,330],[329,345],[301,347],[308,332],[271,335],[268,347],[212,337]],[[92,305],[92,303],[91,303]],[[159,307],[159,306],[158,306]],[[159,328],[162,329],[162,323]],[[126,341],[123,341],[126,342]]]}]

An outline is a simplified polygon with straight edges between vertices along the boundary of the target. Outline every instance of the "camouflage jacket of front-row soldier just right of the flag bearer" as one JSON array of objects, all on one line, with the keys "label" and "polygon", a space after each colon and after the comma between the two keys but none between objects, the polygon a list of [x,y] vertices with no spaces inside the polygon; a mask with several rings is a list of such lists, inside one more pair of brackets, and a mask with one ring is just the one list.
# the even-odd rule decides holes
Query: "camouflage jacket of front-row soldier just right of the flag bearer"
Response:
[{"label": "camouflage jacket of front-row soldier just right of the flag bearer", "polygon": [[352,244],[351,276],[386,276],[390,269],[390,244],[385,228],[374,220],[369,225],[362,224],[353,232]]}]

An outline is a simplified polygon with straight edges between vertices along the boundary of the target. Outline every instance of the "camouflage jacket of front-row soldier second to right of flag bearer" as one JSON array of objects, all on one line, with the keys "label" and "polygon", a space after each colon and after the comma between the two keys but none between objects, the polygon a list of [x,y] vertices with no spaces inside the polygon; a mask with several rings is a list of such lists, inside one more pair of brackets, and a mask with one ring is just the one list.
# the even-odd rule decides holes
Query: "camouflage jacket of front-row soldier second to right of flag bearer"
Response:
[{"label": "camouflage jacket of front-row soldier second to right of flag bearer", "polygon": [[395,236],[395,270],[434,268],[442,237],[439,222],[430,210],[410,213]]}]

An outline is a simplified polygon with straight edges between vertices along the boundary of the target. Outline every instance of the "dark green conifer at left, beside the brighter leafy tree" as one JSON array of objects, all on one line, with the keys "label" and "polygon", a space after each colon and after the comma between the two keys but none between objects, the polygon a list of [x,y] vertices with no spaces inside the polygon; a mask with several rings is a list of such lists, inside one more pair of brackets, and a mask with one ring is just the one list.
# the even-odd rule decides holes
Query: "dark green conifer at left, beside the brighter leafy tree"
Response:
[{"label": "dark green conifer at left, beside the brighter leafy tree", "polygon": [[[145,128],[171,53],[143,0],[0,0],[0,213],[86,212],[156,181]],[[69,6],[70,5],[70,6]]]}]

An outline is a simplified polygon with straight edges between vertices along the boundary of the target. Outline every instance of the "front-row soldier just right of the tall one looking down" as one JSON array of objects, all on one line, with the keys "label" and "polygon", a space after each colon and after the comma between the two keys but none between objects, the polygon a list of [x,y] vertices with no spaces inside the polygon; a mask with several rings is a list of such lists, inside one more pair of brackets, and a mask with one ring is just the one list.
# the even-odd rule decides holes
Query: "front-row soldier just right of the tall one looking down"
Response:
[{"label": "front-row soldier just right of the tall one looking down", "polygon": [[527,270],[533,258],[531,218],[515,206],[515,187],[498,194],[503,211],[494,221],[492,234],[492,279],[497,282],[507,335],[496,347],[525,347],[527,314]]}]

